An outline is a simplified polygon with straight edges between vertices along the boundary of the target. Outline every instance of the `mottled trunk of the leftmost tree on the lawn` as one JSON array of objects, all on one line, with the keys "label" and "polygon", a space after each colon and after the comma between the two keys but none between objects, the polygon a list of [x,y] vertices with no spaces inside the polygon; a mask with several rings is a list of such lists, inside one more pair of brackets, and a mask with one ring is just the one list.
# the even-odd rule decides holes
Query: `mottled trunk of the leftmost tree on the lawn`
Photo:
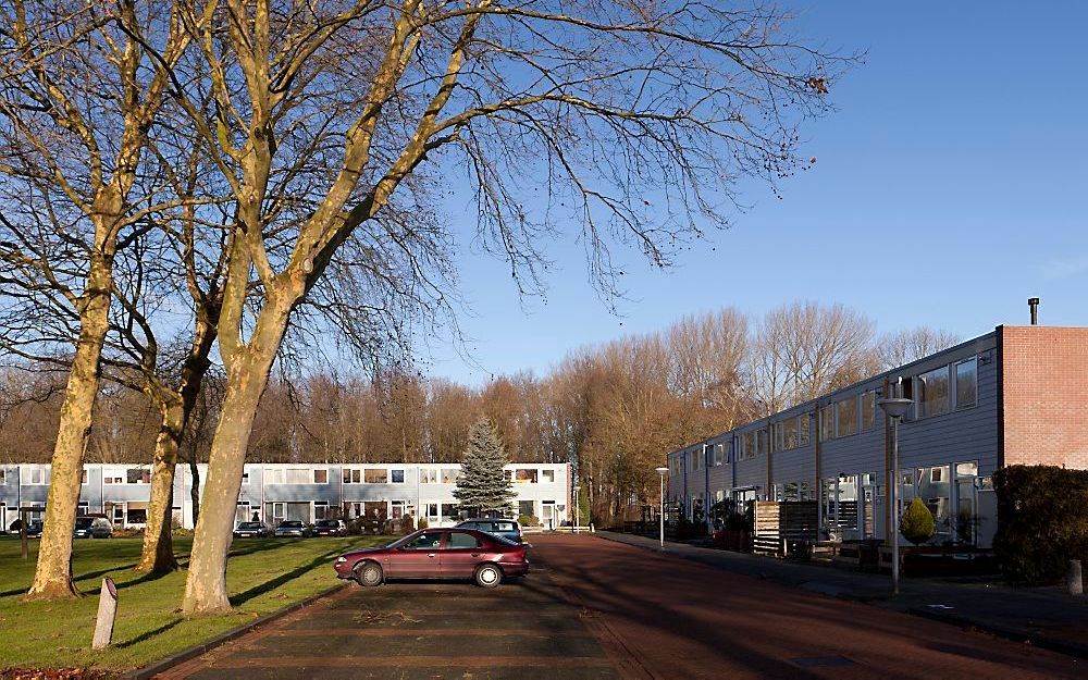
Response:
[{"label": "mottled trunk of the leftmost tree on the lawn", "polygon": [[53,447],[52,481],[38,547],[38,564],[27,599],[79,595],[72,582],[72,531],[83,484],[83,456],[90,437],[99,363],[109,330],[112,271],[101,256],[92,257],[79,310],[79,341],[69,372]]}]

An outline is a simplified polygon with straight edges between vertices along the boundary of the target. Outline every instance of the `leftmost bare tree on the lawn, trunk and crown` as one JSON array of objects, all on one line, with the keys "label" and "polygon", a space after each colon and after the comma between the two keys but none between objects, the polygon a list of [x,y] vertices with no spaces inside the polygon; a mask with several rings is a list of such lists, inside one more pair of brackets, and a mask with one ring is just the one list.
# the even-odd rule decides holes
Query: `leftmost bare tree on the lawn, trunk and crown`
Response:
[{"label": "leftmost bare tree on the lawn, trunk and crown", "polygon": [[[0,4],[0,261],[3,280],[20,286],[5,292],[33,310],[37,284],[63,290],[78,336],[27,596],[71,597],[71,528],[110,327],[113,262],[157,209],[153,193],[133,189],[166,70],[189,34],[169,10],[131,0],[13,0]],[[137,26],[154,36],[153,59],[133,39]]]}]

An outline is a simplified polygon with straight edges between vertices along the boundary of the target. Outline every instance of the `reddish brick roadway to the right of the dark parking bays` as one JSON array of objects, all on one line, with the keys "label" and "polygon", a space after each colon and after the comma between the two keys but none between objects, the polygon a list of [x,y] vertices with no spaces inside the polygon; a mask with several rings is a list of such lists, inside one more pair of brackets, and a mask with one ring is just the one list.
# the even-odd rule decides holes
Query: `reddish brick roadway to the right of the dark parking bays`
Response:
[{"label": "reddish brick roadway to the right of the dark parking bays", "polygon": [[647,678],[1088,677],[1071,657],[641,547],[534,542]]}]

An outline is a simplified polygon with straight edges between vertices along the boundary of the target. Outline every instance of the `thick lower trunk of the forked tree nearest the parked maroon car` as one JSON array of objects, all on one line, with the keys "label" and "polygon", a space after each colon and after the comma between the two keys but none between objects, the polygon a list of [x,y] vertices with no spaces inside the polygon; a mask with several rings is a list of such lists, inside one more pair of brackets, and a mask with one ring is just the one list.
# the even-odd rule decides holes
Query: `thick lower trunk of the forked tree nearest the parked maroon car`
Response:
[{"label": "thick lower trunk of the forked tree nearest the parked maroon car", "polygon": [[226,557],[233,537],[242,473],[257,406],[287,327],[288,311],[265,308],[249,345],[227,369],[222,412],[208,457],[203,505],[193,537],[182,609],[186,615],[230,611]]}]

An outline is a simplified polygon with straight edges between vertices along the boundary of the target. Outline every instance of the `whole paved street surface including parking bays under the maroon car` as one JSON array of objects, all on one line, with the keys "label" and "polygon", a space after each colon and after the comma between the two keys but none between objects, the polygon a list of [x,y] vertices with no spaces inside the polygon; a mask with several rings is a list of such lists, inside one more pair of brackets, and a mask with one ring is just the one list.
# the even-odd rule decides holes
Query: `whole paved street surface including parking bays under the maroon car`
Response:
[{"label": "whole paved street surface including parking bays under the maroon car", "polygon": [[164,678],[1083,678],[1029,645],[593,536],[535,570],[350,586]]}]

